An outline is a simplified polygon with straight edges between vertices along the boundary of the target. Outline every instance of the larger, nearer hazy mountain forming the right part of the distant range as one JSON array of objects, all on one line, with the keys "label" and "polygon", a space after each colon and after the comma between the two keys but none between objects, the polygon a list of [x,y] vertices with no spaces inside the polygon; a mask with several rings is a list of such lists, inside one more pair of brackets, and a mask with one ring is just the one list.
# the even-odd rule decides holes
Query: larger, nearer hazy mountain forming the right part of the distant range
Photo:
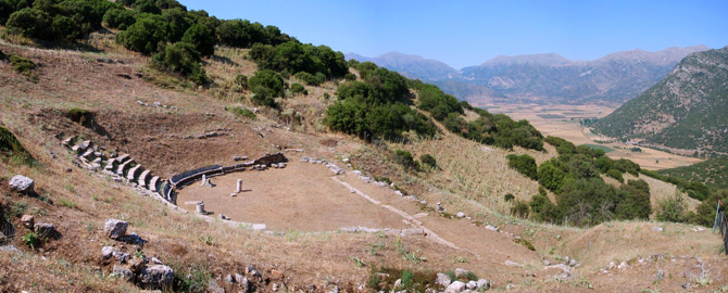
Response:
[{"label": "larger, nearer hazy mountain forming the right part of the distant range", "polygon": [[687,54],[708,48],[633,50],[592,61],[572,61],[558,54],[498,56],[463,68],[461,78],[505,97],[542,102],[625,102],[665,77]]}]

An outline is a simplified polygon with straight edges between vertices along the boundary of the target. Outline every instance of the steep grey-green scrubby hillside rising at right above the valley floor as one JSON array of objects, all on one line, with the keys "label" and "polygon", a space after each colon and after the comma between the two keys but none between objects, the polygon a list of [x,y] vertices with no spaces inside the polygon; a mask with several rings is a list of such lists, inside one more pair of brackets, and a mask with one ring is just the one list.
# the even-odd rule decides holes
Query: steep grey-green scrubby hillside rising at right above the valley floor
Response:
[{"label": "steep grey-green scrubby hillside rising at right above the valley floor", "polygon": [[728,152],[728,48],[688,55],[675,69],[612,114],[597,131],[641,143]]}]

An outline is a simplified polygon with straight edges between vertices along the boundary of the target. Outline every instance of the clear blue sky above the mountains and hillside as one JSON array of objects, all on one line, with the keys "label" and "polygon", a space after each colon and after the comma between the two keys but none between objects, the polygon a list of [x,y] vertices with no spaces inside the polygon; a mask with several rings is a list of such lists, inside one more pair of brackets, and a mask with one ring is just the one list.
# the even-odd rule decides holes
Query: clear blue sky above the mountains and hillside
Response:
[{"label": "clear blue sky above the mountains and hillside", "polygon": [[278,26],[344,53],[417,54],[455,68],[497,55],[592,60],[637,48],[728,46],[728,0],[347,1],[179,0],[218,18]]}]

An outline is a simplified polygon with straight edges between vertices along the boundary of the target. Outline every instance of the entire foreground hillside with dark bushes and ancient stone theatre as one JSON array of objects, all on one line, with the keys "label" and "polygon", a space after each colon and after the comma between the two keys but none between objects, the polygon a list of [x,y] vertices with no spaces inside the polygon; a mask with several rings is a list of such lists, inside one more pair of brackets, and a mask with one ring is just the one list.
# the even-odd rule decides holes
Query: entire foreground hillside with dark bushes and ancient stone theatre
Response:
[{"label": "entire foreground hillside with dark bushes and ancient stone theatre", "polygon": [[[2,292],[716,291],[728,282],[720,238],[698,226],[615,218],[611,202],[591,211],[595,226],[529,217],[526,201],[555,194],[509,155],[553,162],[555,177],[556,167],[599,171],[597,152],[555,148],[526,120],[176,1],[36,3],[10,18],[61,21],[0,27]],[[86,9],[96,17],[80,17]],[[111,27],[120,14],[130,24]],[[46,27],[17,29],[33,25]],[[633,167],[600,157],[613,170]],[[654,199],[677,190],[639,188]],[[614,192],[605,195],[623,204],[632,194]]]}]

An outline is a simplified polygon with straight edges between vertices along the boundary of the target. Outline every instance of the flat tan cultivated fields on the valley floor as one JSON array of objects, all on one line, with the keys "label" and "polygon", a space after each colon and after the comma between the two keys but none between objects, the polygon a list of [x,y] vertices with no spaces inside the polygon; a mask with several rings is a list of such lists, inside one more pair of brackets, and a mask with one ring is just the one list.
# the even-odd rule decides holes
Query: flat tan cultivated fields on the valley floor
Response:
[{"label": "flat tan cultivated fields on the valley floor", "polygon": [[579,122],[586,118],[601,118],[616,107],[605,105],[537,105],[537,104],[488,104],[477,105],[491,113],[503,113],[514,119],[527,119],[543,136],[554,136],[566,139],[576,145],[592,144],[613,149],[607,152],[612,158],[629,158],[645,169],[660,170],[681,166],[689,166],[700,158],[670,154],[663,151],[641,148],[642,152],[632,152],[633,145],[613,141],[611,138],[592,133],[589,128],[582,127]]}]

